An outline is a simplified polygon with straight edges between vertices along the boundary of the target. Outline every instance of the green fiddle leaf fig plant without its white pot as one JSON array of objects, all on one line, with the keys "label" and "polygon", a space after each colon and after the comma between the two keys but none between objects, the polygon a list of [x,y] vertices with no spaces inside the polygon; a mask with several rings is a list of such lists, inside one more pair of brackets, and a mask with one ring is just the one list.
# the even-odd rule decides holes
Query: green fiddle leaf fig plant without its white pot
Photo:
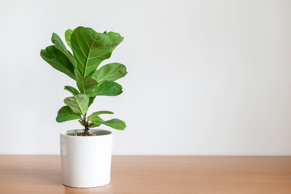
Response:
[{"label": "green fiddle leaf fig plant without its white pot", "polygon": [[110,58],[112,51],[123,41],[123,37],[119,33],[98,33],[82,26],[68,29],[65,31],[65,41],[73,54],[56,33],[52,34],[51,40],[54,45],[41,50],[40,56],[56,70],[74,79],[79,89],[65,86],[64,89],[73,96],[64,99],[66,106],[58,111],[56,121],[78,119],[84,127],[84,132],[74,134],[76,136],[91,136],[88,130],[101,124],[124,130],[126,125],[122,120],[104,121],[99,116],[113,114],[111,111],[97,111],[86,118],[88,107],[96,96],[117,96],[123,92],[122,86],[115,81],[127,74],[124,65],[109,63],[97,69],[103,60]]}]

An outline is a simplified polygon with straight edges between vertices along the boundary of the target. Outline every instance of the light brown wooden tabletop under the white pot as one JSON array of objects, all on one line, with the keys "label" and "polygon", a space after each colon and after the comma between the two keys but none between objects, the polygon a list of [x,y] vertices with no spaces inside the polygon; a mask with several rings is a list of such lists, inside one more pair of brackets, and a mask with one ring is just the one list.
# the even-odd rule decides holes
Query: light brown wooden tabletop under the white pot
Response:
[{"label": "light brown wooden tabletop under the white pot", "polygon": [[0,155],[0,193],[291,193],[291,156],[112,156],[111,182],[62,185],[59,155]]}]

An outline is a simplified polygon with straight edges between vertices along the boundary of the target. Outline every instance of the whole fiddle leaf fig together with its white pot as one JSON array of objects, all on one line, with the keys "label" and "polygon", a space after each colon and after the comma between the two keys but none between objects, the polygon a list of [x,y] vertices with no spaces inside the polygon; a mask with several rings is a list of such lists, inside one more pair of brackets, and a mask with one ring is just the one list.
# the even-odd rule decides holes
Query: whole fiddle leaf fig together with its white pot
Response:
[{"label": "whole fiddle leaf fig together with its white pot", "polygon": [[124,130],[126,125],[122,120],[104,121],[99,116],[113,112],[97,111],[87,115],[87,111],[96,96],[117,96],[123,92],[115,81],[127,74],[124,65],[110,63],[97,69],[103,60],[111,56],[123,37],[119,33],[97,33],[79,26],[65,32],[65,41],[73,54],[56,33],[52,34],[54,45],[40,51],[40,56],[47,63],[74,79],[79,89],[65,86],[64,89],[73,96],[64,99],[66,106],[58,111],[56,117],[57,122],[78,119],[84,127],[83,130],[60,133],[62,183],[79,188],[103,186],[110,182],[113,134],[90,128],[104,124]]}]

